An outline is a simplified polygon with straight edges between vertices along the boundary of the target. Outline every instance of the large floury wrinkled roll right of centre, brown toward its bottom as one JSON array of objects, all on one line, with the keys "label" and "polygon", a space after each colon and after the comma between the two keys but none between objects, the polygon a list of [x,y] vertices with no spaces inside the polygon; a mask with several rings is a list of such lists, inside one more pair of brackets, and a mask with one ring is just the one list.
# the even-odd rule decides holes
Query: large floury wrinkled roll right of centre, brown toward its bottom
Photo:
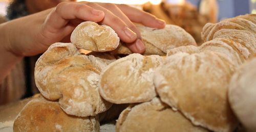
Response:
[{"label": "large floury wrinkled roll right of centre, brown toward its bottom", "polygon": [[214,52],[183,52],[166,58],[155,72],[154,83],[161,100],[193,124],[232,131],[238,124],[227,99],[232,72]]}]

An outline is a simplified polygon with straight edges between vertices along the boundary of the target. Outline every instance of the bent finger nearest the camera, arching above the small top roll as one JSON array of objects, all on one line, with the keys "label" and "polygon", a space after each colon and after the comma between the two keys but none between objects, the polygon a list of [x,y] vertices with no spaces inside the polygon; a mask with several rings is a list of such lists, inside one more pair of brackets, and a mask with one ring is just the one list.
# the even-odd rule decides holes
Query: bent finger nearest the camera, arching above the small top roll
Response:
[{"label": "bent finger nearest the camera, arching above the small top roll", "polygon": [[66,26],[71,19],[82,19],[99,22],[104,18],[104,12],[95,10],[87,5],[79,3],[60,3],[47,18],[46,25],[50,29],[58,30]]}]

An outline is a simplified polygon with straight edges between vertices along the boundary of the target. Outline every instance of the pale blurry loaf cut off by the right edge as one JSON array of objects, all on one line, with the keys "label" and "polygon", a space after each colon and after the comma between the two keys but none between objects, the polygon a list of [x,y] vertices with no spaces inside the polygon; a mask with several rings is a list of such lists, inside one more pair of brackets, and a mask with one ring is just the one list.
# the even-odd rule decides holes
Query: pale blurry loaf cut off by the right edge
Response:
[{"label": "pale blurry loaf cut off by the right edge", "polygon": [[231,108],[248,131],[256,131],[256,58],[233,74],[228,91]]}]

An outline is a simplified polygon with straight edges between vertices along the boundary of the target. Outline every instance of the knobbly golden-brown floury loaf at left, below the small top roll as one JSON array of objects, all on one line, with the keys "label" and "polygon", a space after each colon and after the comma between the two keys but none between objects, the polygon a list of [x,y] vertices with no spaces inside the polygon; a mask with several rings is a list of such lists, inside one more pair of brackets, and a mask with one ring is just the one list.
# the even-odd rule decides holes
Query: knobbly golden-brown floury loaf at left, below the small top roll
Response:
[{"label": "knobbly golden-brown floury loaf at left, below the small top roll", "polygon": [[87,117],[104,112],[112,104],[99,95],[99,74],[115,59],[101,58],[79,55],[71,43],[55,43],[36,62],[36,86],[46,98],[58,100],[67,114]]}]

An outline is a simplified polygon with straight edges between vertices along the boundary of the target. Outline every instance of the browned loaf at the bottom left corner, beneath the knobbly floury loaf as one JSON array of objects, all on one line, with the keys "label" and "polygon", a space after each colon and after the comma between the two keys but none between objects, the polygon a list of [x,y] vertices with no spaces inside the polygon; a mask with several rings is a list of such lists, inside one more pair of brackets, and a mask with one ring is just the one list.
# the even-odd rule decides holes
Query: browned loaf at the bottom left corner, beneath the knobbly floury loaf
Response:
[{"label": "browned loaf at the bottom left corner, beneath the knobbly floury loaf", "polygon": [[16,117],[13,131],[99,131],[97,116],[75,117],[63,112],[58,102],[36,97]]}]

